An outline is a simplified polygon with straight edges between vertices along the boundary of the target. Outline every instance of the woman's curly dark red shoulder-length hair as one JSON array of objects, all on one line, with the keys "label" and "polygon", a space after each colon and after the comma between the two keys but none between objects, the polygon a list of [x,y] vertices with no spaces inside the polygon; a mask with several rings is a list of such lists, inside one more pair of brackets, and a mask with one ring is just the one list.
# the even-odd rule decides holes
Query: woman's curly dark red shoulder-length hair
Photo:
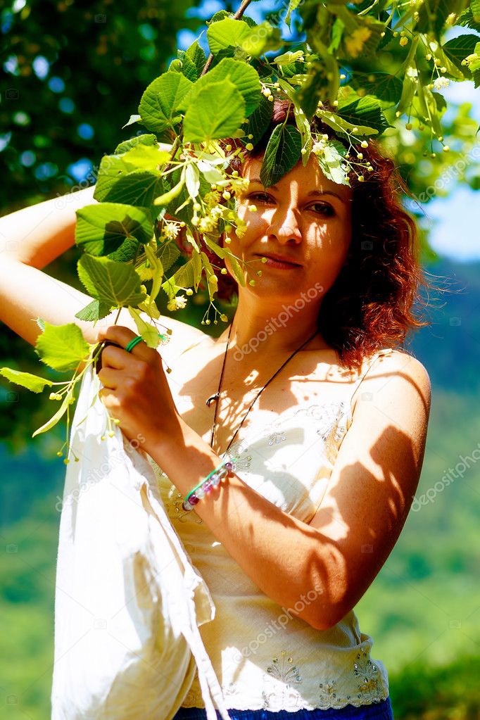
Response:
[{"label": "woman's curly dark red shoulder-length hair", "polygon": [[[271,125],[248,157],[263,155],[273,128],[284,122],[286,115],[287,122],[294,124],[289,99],[276,98]],[[312,120],[312,130],[339,139],[317,117]],[[340,364],[350,370],[359,369],[363,359],[379,349],[403,343],[410,330],[431,325],[420,318],[414,305],[426,306],[420,288],[433,287],[420,264],[417,225],[401,204],[402,195],[409,191],[394,162],[382,155],[372,140],[368,148],[358,145],[355,149],[370,161],[373,171],[364,171],[363,181],[358,180],[357,172],[350,174],[352,240],[345,264],[322,300],[317,321]],[[207,248],[202,249],[215,264],[225,266]],[[218,279],[217,297],[231,302],[238,291],[237,282],[230,274],[219,274]]]}]

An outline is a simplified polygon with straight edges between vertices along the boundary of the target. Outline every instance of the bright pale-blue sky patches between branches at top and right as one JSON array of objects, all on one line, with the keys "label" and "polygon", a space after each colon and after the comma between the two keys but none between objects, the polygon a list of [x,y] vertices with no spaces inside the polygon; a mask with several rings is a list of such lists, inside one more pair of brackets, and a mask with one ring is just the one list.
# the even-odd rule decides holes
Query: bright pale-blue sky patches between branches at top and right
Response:
[{"label": "bright pale-blue sky patches between branches at top and right", "polygon": [[[278,7],[274,0],[269,3],[271,9]],[[192,8],[189,11],[190,17],[208,19],[221,10],[223,4],[218,0],[205,0],[199,8]],[[266,1],[262,2],[263,12],[266,10]],[[268,10],[268,8],[267,8]],[[248,14],[256,22],[261,22],[258,6],[251,4]],[[282,32],[286,40],[289,39],[288,28],[284,25]],[[450,31],[448,39],[464,32],[472,32],[468,28],[458,28]],[[181,30],[178,33],[178,48],[188,48],[196,35],[189,30]],[[201,37],[200,44],[208,50],[205,37]],[[473,82],[464,81],[456,83],[450,81],[450,86],[443,90],[448,103],[471,102],[471,117],[476,118],[480,125],[480,88],[474,89]],[[445,137],[448,143],[448,138]],[[429,241],[433,250],[441,256],[447,256],[456,261],[468,262],[480,260],[480,192],[470,189],[465,184],[458,183],[451,185],[447,197],[433,198],[425,204],[425,217],[422,225],[430,228]]]}]

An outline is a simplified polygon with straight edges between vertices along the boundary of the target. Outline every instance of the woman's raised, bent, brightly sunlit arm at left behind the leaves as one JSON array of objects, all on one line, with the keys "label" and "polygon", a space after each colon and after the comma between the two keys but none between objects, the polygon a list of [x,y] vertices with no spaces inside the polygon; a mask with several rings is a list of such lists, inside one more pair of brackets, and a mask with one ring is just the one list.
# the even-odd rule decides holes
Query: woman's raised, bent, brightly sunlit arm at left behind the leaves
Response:
[{"label": "woman's raised, bent, brightly sunlit arm at left behind the leaves", "polygon": [[[0,320],[32,345],[40,334],[38,317],[52,325],[76,323],[89,343],[96,342],[99,328],[113,325],[117,318],[114,310],[95,325],[78,320],[76,312],[91,297],[42,272],[75,244],[76,210],[96,202],[93,195],[91,186],[0,217]],[[166,315],[161,322],[173,330],[166,346],[172,358],[204,336],[201,330]],[[137,332],[127,310],[121,310],[117,324]]]}]

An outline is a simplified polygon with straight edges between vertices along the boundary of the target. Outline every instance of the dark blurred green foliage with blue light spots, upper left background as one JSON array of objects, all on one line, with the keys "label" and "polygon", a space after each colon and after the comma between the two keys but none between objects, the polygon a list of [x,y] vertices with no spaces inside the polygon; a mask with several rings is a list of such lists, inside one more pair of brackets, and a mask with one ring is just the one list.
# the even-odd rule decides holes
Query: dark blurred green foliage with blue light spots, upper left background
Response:
[{"label": "dark blurred green foliage with blue light spots, upper left background", "polygon": [[[32,0],[1,10],[2,214],[64,194],[71,169],[93,166],[117,143],[145,87],[176,53],[198,1]],[[131,128],[129,128],[131,130]]]}]

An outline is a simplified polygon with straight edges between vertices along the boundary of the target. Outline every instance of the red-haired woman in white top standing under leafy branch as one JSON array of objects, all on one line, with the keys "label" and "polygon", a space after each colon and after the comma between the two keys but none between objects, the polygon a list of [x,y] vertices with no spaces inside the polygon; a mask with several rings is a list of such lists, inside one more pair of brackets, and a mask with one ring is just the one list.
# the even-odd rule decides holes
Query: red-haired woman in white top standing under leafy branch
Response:
[{"label": "red-haired woman in white top standing under leafy branch", "polygon": [[[273,125],[285,112],[278,103]],[[430,381],[392,347],[422,324],[411,313],[422,282],[415,226],[373,148],[373,172],[351,188],[312,155],[265,189],[263,150],[240,168],[247,230],[230,235],[261,281],[237,287],[217,340],[162,318],[171,374],[145,343],[125,351],[137,333],[124,310],[117,326],[114,314],[100,330],[82,323],[89,297],[40,271],[73,244],[74,211],[92,189],[1,220],[1,319],[30,343],[38,315],[114,343],[102,352],[101,399],[127,437],[145,437],[168,515],[212,593],[216,616],[201,635],[232,719],[391,719],[386,669],[353,608],[399,537],[425,451]],[[186,502],[225,462],[222,482]],[[174,720],[204,717],[195,678]]]}]

